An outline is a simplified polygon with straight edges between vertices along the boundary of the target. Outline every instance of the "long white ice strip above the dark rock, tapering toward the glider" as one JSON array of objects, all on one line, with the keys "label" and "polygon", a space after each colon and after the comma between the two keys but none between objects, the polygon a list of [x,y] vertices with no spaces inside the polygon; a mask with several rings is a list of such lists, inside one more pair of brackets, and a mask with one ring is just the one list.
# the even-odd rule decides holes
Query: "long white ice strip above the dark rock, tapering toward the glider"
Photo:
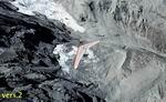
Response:
[{"label": "long white ice strip above the dark rock, tapering toward the glider", "polygon": [[49,19],[55,19],[72,28],[74,31],[84,32],[85,29],[77,24],[73,17],[66,12],[61,3],[54,0],[15,0],[12,2],[19,8],[19,12],[34,16],[34,12],[42,13]]}]

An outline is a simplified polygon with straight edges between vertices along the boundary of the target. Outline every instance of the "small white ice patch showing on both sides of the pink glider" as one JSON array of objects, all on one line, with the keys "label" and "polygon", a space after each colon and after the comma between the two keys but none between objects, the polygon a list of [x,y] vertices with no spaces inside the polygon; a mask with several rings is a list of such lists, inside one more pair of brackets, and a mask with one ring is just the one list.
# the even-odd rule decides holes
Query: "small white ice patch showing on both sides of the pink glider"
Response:
[{"label": "small white ice patch showing on both sides of the pink glider", "polygon": [[[73,67],[73,60],[76,54],[77,47],[72,45],[71,50],[69,49],[70,48],[64,44],[59,44],[53,51],[54,54],[60,55],[59,63],[62,67],[62,70],[68,73],[70,72],[70,68]],[[90,49],[87,49],[84,54],[87,54],[87,57],[82,58],[82,61],[85,64],[98,61],[96,55]]]}]

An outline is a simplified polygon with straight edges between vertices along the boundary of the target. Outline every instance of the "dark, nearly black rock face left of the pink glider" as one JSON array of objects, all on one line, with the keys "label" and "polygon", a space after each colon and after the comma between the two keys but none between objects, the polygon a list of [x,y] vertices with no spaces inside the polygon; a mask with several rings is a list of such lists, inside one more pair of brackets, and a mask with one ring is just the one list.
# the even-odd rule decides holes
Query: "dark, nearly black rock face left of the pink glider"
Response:
[{"label": "dark, nearly black rock face left of the pink glider", "polygon": [[62,72],[56,44],[72,41],[59,21],[17,12],[0,1],[0,93],[22,92],[22,99],[0,102],[105,102],[97,84]]}]

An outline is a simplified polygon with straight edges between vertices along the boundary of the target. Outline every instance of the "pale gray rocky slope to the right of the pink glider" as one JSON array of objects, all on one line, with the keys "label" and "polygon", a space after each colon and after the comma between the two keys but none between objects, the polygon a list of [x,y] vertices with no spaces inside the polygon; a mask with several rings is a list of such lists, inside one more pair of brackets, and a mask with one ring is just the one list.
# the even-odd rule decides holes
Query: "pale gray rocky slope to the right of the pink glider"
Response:
[{"label": "pale gray rocky slope to the right of the pink glider", "polygon": [[[72,3],[70,3],[72,2]],[[101,40],[93,68],[106,102],[165,102],[165,0],[63,0],[85,28],[80,39]],[[98,80],[98,79],[97,79]]]}]

